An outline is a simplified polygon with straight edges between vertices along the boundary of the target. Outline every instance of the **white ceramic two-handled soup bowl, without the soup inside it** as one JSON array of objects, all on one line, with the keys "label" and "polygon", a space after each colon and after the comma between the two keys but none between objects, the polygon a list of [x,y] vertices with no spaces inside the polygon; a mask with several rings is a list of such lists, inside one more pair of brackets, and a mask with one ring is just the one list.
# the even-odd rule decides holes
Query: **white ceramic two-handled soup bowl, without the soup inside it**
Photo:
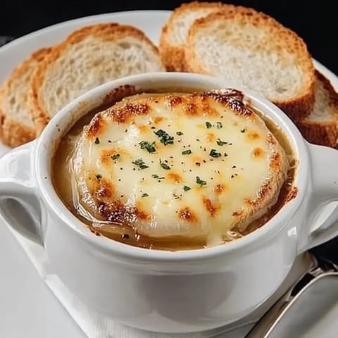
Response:
[{"label": "white ceramic two-handled soup bowl, without the soup inside it", "polygon": [[[95,236],[61,203],[51,159],[73,123],[112,93],[125,95],[125,85],[141,92],[242,90],[289,139],[299,160],[298,194],[260,229],[208,249],[156,251]],[[84,303],[145,330],[194,332],[243,318],[282,284],[299,253],[338,235],[337,208],[312,230],[323,205],[338,199],[338,151],[308,144],[287,115],[255,92],[204,75],[156,73],[103,84],[63,108],[37,142],[1,158],[0,168],[1,213],[8,223],[44,246],[58,277]],[[35,227],[20,223],[22,208]]]}]

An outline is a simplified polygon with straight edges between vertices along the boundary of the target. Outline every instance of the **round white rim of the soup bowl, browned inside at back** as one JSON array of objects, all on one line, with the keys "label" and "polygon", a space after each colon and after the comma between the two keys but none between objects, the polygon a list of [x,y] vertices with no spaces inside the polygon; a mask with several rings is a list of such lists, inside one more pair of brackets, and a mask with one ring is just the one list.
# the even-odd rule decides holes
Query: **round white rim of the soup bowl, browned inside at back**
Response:
[{"label": "round white rim of the soup bowl, browned inside at back", "polygon": [[[258,108],[259,111],[272,118],[273,122],[282,129],[289,139],[296,158],[299,161],[299,168],[295,177],[295,185],[299,192],[296,198],[282,206],[280,211],[267,223],[265,223],[263,227],[251,232],[250,234],[246,234],[246,236],[241,239],[236,239],[227,244],[208,248],[182,251],[144,249],[137,246],[123,244],[104,236],[95,236],[78,218],[75,217],[75,215],[73,215],[73,213],[68,210],[59,198],[56,190],[54,189],[50,175],[52,143],[55,139],[60,139],[62,135],[67,132],[67,130],[65,130],[65,128],[62,129],[62,127],[60,130],[59,126],[62,125],[62,123],[64,124],[65,121],[68,121],[69,129],[72,112],[75,111],[76,108],[90,100],[103,98],[105,94],[108,94],[116,87],[120,87],[125,84],[137,86],[142,83],[156,85],[156,83],[166,81],[177,82],[179,84],[186,82],[190,84],[194,83],[196,84],[196,88],[201,87],[201,83],[203,83],[206,84],[207,87],[210,87],[210,90],[218,88],[237,89],[244,93],[246,99],[250,100],[253,108]],[[145,84],[143,87],[146,88]],[[85,106],[85,104],[83,106]],[[88,110],[84,111],[82,115],[87,112]],[[75,123],[75,120],[73,120],[73,123]],[[73,123],[71,125],[73,125]],[[61,111],[56,113],[54,118],[51,119],[40,135],[33,154],[33,156],[35,156],[35,179],[40,195],[42,196],[42,200],[46,206],[48,206],[49,209],[51,209],[51,211],[68,226],[69,229],[75,232],[75,235],[80,236],[85,242],[98,249],[113,253],[116,257],[130,258],[134,261],[162,261],[163,263],[207,260],[230,253],[238,254],[239,251],[244,253],[244,251],[247,252],[256,246],[259,246],[262,241],[275,236],[277,232],[287,225],[303,201],[310,170],[310,161],[306,142],[292,120],[290,120],[290,118],[283,113],[280,108],[277,108],[277,106],[257,92],[247,89],[239,84],[235,84],[234,82],[192,73],[147,73],[141,75],[131,75],[111,82],[106,82],[105,84],[101,84],[99,87],[89,90],[89,92],[82,94],[77,99],[70,102],[70,104],[62,108]]]}]

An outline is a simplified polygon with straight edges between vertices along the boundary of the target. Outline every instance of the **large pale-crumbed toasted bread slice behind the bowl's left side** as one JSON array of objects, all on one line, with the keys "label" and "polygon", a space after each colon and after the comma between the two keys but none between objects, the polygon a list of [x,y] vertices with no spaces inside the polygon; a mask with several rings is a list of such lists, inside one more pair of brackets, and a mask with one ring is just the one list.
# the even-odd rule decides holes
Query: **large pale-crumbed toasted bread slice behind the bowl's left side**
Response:
[{"label": "large pale-crumbed toasted bread slice behind the bowl's left side", "polygon": [[30,101],[37,133],[63,106],[99,84],[164,70],[156,46],[135,27],[106,23],[76,30],[32,76]]}]

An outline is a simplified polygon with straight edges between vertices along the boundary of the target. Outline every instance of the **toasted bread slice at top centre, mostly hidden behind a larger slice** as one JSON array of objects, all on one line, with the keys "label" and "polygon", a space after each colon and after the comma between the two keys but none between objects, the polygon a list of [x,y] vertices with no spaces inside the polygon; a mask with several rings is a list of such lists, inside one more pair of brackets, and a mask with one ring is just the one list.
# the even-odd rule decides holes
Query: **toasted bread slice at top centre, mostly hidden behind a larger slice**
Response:
[{"label": "toasted bread slice at top centre, mostly hidden behind a larger slice", "polygon": [[170,15],[162,28],[160,38],[160,55],[169,71],[182,72],[184,66],[184,45],[187,43],[189,28],[196,19],[220,11],[221,8],[232,7],[220,2],[198,2],[182,4]]}]

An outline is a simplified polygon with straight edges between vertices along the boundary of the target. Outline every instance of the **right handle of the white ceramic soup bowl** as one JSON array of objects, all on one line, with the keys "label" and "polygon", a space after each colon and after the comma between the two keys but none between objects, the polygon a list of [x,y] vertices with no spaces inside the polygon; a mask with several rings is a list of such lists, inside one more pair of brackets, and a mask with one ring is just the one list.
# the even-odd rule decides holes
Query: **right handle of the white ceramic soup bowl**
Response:
[{"label": "right handle of the white ceramic soup bowl", "polygon": [[[327,146],[308,144],[311,155],[312,191],[308,196],[306,234],[299,252],[306,251],[338,236],[338,206],[319,226],[318,216],[330,202],[338,201],[338,150]],[[309,182],[310,184],[310,182]],[[325,209],[324,209],[325,210]]]}]

